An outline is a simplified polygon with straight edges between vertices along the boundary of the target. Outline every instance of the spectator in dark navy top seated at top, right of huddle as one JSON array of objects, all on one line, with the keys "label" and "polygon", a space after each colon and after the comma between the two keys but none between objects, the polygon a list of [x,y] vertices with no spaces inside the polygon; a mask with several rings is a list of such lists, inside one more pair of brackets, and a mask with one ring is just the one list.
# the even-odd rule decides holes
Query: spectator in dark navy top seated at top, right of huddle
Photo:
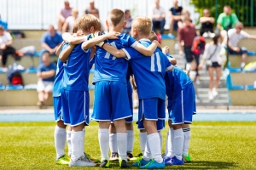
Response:
[{"label": "spectator in dark navy top seated at top, right of huddle", "polygon": [[173,0],[173,7],[170,8],[170,29],[169,36],[172,36],[172,31],[177,31],[177,21],[182,17],[183,7],[177,5],[177,0]]}]

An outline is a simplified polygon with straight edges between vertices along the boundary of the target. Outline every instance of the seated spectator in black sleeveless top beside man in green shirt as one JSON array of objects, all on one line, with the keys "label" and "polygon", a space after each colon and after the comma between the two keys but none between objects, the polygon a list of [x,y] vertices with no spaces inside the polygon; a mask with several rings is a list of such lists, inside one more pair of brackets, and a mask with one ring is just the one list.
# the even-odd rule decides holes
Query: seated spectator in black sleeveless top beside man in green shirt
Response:
[{"label": "seated spectator in black sleeveless top beside man in green shirt", "polygon": [[215,19],[211,17],[210,10],[208,8],[205,8],[203,10],[203,16],[200,17],[200,23],[201,23],[200,35],[202,37],[214,37],[214,33],[213,33],[214,22],[215,22]]}]

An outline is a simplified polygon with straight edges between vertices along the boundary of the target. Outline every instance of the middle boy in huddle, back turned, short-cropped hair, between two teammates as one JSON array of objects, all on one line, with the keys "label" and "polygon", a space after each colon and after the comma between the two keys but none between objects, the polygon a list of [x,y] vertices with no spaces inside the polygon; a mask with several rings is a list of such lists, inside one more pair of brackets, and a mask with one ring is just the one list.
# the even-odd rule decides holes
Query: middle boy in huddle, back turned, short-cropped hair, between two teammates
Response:
[{"label": "middle boy in huddle, back turned, short-cropped hair, between two teammates", "polygon": [[[109,32],[121,32],[125,27],[125,14],[120,9],[113,9],[108,14],[106,21]],[[147,50],[136,39],[127,34],[120,34],[117,40],[107,40],[116,48],[132,47],[143,54],[151,55],[157,44],[152,50]],[[104,45],[103,45],[104,46]],[[119,166],[130,167],[127,163],[127,131],[125,118],[131,117],[127,94],[126,71],[128,63],[126,59],[116,59],[115,56],[106,52],[103,48],[96,47],[95,56],[95,99],[92,119],[99,122],[99,143],[102,153],[101,167],[109,167],[109,134],[110,122],[116,128],[117,147],[119,152]]]}]

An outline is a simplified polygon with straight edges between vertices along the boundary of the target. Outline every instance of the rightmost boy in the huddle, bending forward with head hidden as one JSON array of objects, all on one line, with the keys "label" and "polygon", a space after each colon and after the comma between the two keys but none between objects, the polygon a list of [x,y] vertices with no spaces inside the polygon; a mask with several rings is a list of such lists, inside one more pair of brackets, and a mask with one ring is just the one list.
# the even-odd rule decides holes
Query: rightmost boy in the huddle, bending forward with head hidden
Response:
[{"label": "rightmost boy in the huddle, bending forward with head hidden", "polygon": [[170,127],[168,144],[171,147],[164,159],[166,165],[183,165],[184,161],[190,161],[189,124],[196,112],[195,88],[185,71],[178,67],[166,73],[165,82]]}]

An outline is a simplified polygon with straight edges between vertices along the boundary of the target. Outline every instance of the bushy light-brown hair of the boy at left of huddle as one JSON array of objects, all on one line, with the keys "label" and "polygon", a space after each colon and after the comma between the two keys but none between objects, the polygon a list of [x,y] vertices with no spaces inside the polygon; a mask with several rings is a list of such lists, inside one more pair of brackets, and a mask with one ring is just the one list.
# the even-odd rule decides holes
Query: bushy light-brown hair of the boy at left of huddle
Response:
[{"label": "bushy light-brown hair of the boy at left of huddle", "polygon": [[78,29],[81,31],[90,31],[90,27],[93,26],[94,30],[101,31],[102,24],[101,21],[92,14],[84,14],[79,17]]}]

